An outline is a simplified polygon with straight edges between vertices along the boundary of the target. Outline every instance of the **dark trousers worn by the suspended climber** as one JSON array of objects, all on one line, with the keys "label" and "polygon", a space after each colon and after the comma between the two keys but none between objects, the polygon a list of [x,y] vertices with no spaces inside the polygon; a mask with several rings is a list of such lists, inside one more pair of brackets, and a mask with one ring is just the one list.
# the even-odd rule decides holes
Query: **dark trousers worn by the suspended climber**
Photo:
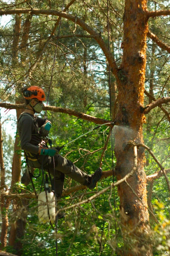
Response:
[{"label": "dark trousers worn by the suspended climber", "polygon": [[37,161],[28,160],[28,163],[34,168],[43,168],[50,172],[53,176],[54,191],[58,198],[60,198],[62,194],[64,175],[69,176],[82,185],[88,185],[89,177],[91,177],[91,175],[81,171],[70,160],[62,157],[60,154],[54,157],[39,156]]}]

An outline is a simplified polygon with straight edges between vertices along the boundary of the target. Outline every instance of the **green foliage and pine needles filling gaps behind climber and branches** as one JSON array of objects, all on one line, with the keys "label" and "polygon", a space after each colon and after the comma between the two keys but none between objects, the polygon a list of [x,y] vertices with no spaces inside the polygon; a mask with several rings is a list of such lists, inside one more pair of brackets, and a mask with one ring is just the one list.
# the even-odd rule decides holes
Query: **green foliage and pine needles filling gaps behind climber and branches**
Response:
[{"label": "green foliage and pine needles filling gaps behind climber and branches", "polygon": [[[65,2],[65,5],[69,1]],[[17,1],[17,8],[36,8],[61,10],[62,1]],[[163,7],[162,7],[163,5]],[[15,8],[13,2],[0,2],[0,8]],[[31,6],[31,7],[30,7]],[[123,18],[125,1],[113,0],[109,2],[109,25],[110,25],[110,51],[119,65],[123,55]],[[167,9],[167,1],[148,1],[149,10]],[[87,25],[101,34],[104,42],[108,44],[107,15],[108,9],[105,1],[75,1],[69,7],[69,13],[81,18]],[[0,98],[1,101],[20,101],[21,87],[23,85],[42,86],[46,95],[49,92],[49,105],[71,108],[87,115],[110,120],[109,111],[109,86],[106,57],[98,44],[81,27],[74,22],[62,19],[59,38],[57,41],[59,26],[57,27],[50,42],[45,48],[42,58],[36,68],[28,76],[28,70],[36,62],[45,41],[48,39],[57,17],[52,15],[30,15],[31,27],[28,41],[22,45],[24,25],[29,15],[21,16],[21,29],[17,49],[13,48],[15,16],[6,27],[0,27]],[[156,17],[149,20],[149,29],[155,33],[160,40],[169,43],[168,17]],[[74,31],[74,33],[73,33]],[[54,53],[56,50],[56,58]],[[15,56],[16,54],[16,56]],[[15,57],[14,57],[15,56]],[[54,69],[53,69],[54,63]],[[53,76],[52,75],[53,69]],[[169,55],[158,47],[150,39],[147,41],[147,64],[146,64],[146,90],[153,93],[155,99],[169,96]],[[115,78],[113,78],[115,81]],[[153,84],[151,83],[153,82]],[[153,86],[151,88],[151,86]],[[145,98],[145,105],[149,103]],[[165,110],[169,113],[170,106],[166,104]],[[44,113],[43,113],[44,114]],[[94,124],[79,118],[64,115],[62,113],[47,112],[47,117],[52,121],[50,137],[54,146],[64,145],[80,135],[95,127]],[[104,144],[109,129],[101,127],[92,131],[73,143],[65,146],[61,155],[68,157],[79,168],[88,174],[92,174],[100,163]],[[163,110],[155,108],[147,117],[144,125],[144,143],[149,146],[164,168],[169,168],[169,122]],[[14,141],[11,137],[3,135],[3,151],[5,166],[8,167],[8,177],[13,157]],[[114,138],[113,138],[114,140]],[[102,159],[103,171],[112,170],[112,142],[109,140],[107,150]],[[21,153],[21,151],[19,151]],[[158,171],[160,168],[156,162],[145,151],[146,175]],[[10,158],[10,159],[9,159]],[[8,162],[9,161],[9,162]],[[116,158],[114,156],[114,165]],[[22,158],[22,171],[26,171],[25,159]],[[38,173],[39,170],[35,170]],[[169,175],[168,175],[169,177]],[[115,179],[116,181],[116,179]],[[42,176],[33,182],[36,191],[41,190]],[[108,177],[98,182],[97,190],[107,188],[113,182],[113,177]],[[64,189],[73,187],[77,183],[68,177],[65,179]],[[43,188],[42,188],[43,189]],[[31,183],[24,186],[17,183],[14,192],[33,191]],[[21,200],[17,201],[18,211],[28,211],[27,225],[23,243],[24,256],[49,256],[55,254],[55,240],[57,237],[59,255],[88,255],[88,256],[111,256],[116,255],[116,250],[121,252],[124,246],[122,228],[119,215],[119,196],[117,188],[115,191],[107,190],[95,200],[86,204],[78,205],[80,201],[94,195],[96,191],[83,190],[69,196],[63,196],[59,201],[59,208],[67,208],[64,219],[58,220],[57,234],[55,228],[49,224],[38,221],[37,199],[29,200],[25,206]],[[16,201],[13,201],[14,209]],[[71,205],[77,206],[70,208]],[[161,250],[169,250],[169,192],[164,177],[155,180],[152,188],[151,205],[155,218],[150,220],[151,230],[154,237],[154,255],[160,255]],[[9,208],[8,216],[12,222],[15,213],[12,206]],[[21,211],[22,213],[22,211]],[[130,241],[129,241],[130,244]],[[131,244],[130,244],[131,246]],[[7,251],[14,252],[7,247]]]}]

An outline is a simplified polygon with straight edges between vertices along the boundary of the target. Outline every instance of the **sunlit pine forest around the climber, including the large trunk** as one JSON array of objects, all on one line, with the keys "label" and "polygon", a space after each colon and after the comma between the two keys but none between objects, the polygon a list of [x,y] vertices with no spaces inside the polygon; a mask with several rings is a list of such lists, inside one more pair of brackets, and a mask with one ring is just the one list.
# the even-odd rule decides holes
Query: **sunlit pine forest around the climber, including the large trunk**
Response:
[{"label": "sunlit pine forest around the climber, including the large trunk", "polygon": [[[19,138],[3,120],[4,253],[54,255],[56,240],[58,255],[170,253],[169,9],[163,0],[0,1],[0,15],[10,15],[0,27],[1,114],[16,109],[18,118],[22,87],[37,85],[55,146],[115,122],[60,151],[103,176],[94,191],[65,178],[56,231],[38,221]],[[42,176],[33,181],[40,193]]]}]

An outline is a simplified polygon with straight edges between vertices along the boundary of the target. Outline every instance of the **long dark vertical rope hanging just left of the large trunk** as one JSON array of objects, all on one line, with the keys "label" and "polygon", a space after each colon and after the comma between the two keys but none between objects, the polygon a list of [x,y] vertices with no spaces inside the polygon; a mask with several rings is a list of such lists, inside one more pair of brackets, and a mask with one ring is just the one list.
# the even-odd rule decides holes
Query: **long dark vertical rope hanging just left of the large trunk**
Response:
[{"label": "long dark vertical rope hanging just left of the large trunk", "polygon": [[[107,0],[107,22],[108,22],[108,50],[110,51],[110,40],[109,40],[109,0]],[[111,102],[111,69],[109,64],[109,96],[110,96],[110,120],[112,122],[112,102]],[[112,130],[113,127],[111,127]],[[113,138],[112,138],[112,131],[111,131],[111,148],[112,148],[112,171],[113,171],[113,183],[115,183],[115,175],[114,175],[114,161],[113,161]],[[116,200],[115,200],[115,186],[113,187],[113,195],[114,195],[114,213],[116,217]],[[117,224],[115,220],[115,234],[117,237]],[[116,255],[117,248],[116,248]]]}]

